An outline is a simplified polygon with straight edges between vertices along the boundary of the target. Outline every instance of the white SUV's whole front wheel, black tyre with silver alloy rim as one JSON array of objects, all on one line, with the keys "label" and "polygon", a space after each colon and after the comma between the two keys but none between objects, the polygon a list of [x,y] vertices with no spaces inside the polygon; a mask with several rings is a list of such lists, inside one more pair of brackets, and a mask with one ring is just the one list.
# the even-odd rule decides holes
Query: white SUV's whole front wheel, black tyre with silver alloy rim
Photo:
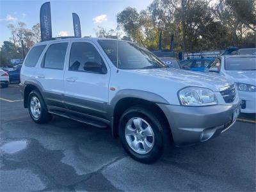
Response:
[{"label": "white SUV's whole front wheel, black tyre with silver alloy rim", "polygon": [[169,127],[144,106],[127,109],[120,118],[118,133],[127,153],[141,163],[154,163],[170,143]]}]

